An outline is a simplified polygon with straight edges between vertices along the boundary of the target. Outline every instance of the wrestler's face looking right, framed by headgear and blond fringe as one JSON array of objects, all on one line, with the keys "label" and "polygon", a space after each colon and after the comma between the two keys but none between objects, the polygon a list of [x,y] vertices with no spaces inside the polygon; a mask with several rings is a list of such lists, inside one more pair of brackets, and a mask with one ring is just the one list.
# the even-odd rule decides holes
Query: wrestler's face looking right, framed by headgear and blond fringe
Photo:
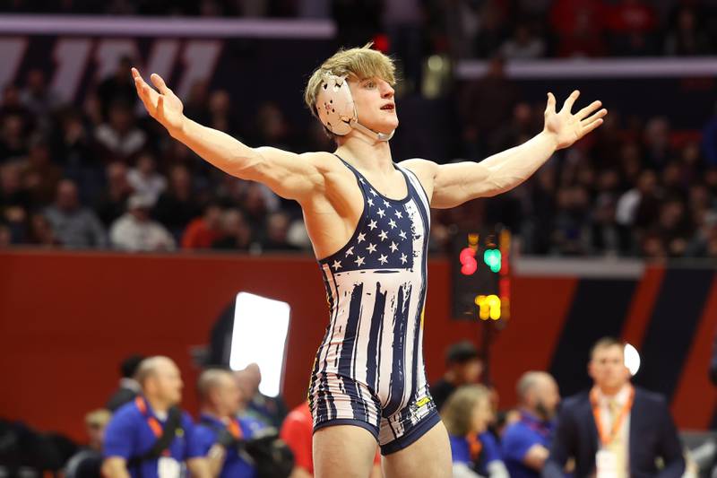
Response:
[{"label": "wrestler's face looking right, framed by headgear and blond fringe", "polygon": [[360,124],[386,135],[398,127],[394,91],[388,82],[376,76],[363,79],[350,77],[349,87]]}]

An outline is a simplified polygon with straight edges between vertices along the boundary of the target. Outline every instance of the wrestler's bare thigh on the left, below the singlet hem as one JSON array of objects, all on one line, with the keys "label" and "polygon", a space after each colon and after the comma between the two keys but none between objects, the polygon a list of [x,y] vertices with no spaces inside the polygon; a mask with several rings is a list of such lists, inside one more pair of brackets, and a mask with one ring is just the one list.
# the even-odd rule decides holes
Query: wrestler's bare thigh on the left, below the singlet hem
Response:
[{"label": "wrestler's bare thigh on the left, below the singlet hem", "polygon": [[335,425],[314,433],[315,478],[368,478],[376,439],[366,429]]}]

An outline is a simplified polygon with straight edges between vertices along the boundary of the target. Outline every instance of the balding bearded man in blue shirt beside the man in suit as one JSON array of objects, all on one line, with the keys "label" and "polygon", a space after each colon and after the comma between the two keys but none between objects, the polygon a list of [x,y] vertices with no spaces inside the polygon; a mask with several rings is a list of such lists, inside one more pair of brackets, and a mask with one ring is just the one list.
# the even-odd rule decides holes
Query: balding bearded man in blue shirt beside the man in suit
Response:
[{"label": "balding bearded man in blue shirt beside the man in suit", "polygon": [[535,371],[518,380],[517,393],[521,419],[505,429],[503,459],[511,478],[538,477],[549,456],[560,394],[549,373]]}]

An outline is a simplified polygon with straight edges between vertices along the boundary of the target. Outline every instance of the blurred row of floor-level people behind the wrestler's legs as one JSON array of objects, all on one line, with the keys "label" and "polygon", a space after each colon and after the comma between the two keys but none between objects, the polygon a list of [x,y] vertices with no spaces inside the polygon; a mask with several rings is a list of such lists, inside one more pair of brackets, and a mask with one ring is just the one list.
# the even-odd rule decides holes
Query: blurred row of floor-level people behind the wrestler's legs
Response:
[{"label": "blurred row of floor-level people behind the wrestler's legs", "polygon": [[[445,373],[430,389],[454,477],[588,476],[598,452],[595,423],[600,450],[615,454],[611,476],[709,472],[717,447],[683,446],[665,398],[632,384],[624,351],[625,343],[600,339],[589,354],[592,387],[562,399],[549,373],[526,371],[515,385],[517,404],[506,409],[487,383],[481,352],[468,341],[451,345]],[[107,404],[87,413],[84,443],[0,420],[0,475],[151,478],[179,476],[186,466],[200,478],[313,476],[309,404],[288,411],[281,395],[263,395],[256,364],[203,369],[194,416],[181,409],[187,387],[168,357],[133,355],[120,371]],[[628,439],[633,429],[640,440]],[[381,476],[376,451],[371,477]]]}]

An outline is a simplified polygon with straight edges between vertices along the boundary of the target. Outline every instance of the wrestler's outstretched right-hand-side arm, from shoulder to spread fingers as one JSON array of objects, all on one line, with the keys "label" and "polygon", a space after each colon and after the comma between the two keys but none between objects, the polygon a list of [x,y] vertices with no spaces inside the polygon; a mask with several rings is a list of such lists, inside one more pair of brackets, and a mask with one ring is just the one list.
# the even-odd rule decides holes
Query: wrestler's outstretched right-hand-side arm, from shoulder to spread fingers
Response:
[{"label": "wrestler's outstretched right-hand-side arm, from shoulder to spread fingers", "polygon": [[480,162],[435,165],[432,168],[434,188],[431,206],[454,207],[477,197],[496,196],[508,191],[530,178],[556,150],[567,148],[600,126],[602,117],[608,114],[607,109],[595,112],[601,106],[600,101],[593,101],[575,114],[571,112],[579,95],[579,91],[573,91],[563,108],[556,111],[555,96],[548,93],[543,131],[520,146]]}]

